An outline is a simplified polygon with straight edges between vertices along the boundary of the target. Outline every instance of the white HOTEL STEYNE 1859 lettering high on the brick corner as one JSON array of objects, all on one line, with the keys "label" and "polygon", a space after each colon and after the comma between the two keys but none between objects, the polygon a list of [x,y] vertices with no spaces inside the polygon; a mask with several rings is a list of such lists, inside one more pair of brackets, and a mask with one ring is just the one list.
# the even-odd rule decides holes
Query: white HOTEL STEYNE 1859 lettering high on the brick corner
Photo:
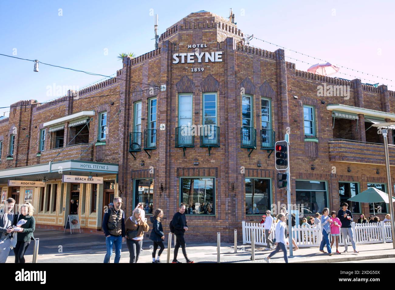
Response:
[{"label": "white HOTEL STEYNE 1859 lettering high on the brick corner", "polygon": [[[196,48],[195,52],[173,53],[173,64],[194,64],[195,62],[222,62],[222,51],[200,52],[198,48],[207,47],[206,44],[190,44],[188,48]],[[191,72],[204,71],[204,67],[193,67]]]}]

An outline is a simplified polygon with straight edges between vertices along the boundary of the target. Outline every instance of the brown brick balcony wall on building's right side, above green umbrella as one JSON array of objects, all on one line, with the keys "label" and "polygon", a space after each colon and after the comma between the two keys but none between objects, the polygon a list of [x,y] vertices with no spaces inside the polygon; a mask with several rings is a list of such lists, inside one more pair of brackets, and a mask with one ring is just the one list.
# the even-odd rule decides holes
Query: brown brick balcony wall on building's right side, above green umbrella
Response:
[{"label": "brown brick balcony wall on building's right side, above green umbrella", "polygon": [[[388,145],[389,164],[395,165],[395,146]],[[380,143],[357,140],[331,139],[329,141],[331,161],[385,165],[384,146]]]}]

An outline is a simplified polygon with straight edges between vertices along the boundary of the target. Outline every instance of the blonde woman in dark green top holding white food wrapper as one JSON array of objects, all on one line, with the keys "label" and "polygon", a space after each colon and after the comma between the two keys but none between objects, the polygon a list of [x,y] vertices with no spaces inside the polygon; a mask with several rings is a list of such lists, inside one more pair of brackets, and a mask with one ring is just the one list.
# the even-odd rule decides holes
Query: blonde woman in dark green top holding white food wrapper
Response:
[{"label": "blonde woman in dark green top holding white food wrapper", "polygon": [[36,229],[36,220],[33,217],[34,208],[30,202],[26,202],[21,206],[21,212],[15,215],[13,225],[24,219],[26,223],[18,228],[14,228],[17,232],[17,245],[14,248],[15,263],[25,263],[24,254],[30,245],[30,241],[34,240],[33,232]]}]

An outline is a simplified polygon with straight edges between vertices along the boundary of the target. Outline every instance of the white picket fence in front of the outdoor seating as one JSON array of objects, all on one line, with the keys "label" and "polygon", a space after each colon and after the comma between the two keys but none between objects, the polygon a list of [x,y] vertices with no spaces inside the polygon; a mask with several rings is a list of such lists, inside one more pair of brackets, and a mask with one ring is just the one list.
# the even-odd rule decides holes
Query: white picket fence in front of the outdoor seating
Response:
[{"label": "white picket fence in front of the outdoor seating", "polygon": [[[246,223],[243,225],[243,244],[250,244],[252,240],[252,230],[255,230],[255,244],[266,245],[265,228],[260,223]],[[356,224],[351,223],[354,232],[355,243],[387,243],[392,242],[391,225],[380,223]],[[303,228],[301,225],[292,227],[292,236],[298,247],[319,247],[322,241],[322,229],[318,224],[312,228]],[[272,225],[269,238],[273,241],[275,237],[275,224]],[[383,238],[384,237],[384,238]],[[329,236],[329,241],[331,241]],[[347,245],[351,245],[350,238],[347,237]],[[344,245],[343,237],[339,236],[339,245]]]}]

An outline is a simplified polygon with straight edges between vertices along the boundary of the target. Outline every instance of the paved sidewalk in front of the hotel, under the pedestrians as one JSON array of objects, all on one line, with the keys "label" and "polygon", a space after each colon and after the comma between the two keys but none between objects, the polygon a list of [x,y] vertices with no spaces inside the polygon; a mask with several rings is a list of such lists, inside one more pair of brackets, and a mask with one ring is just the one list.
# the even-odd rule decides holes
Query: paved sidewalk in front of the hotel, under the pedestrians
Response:
[{"label": "paved sidewalk in front of the hotel, under the pedestrians", "polygon": [[[105,256],[105,238],[102,234],[63,234],[56,230],[37,230],[34,233],[36,238],[40,238],[39,263],[102,263]],[[186,236],[188,257],[195,262],[216,263],[217,248],[216,243],[189,244]],[[165,242],[167,247],[167,242]],[[171,260],[173,258],[174,245],[172,244]],[[261,263],[271,251],[264,251],[264,247],[257,247],[255,251],[255,261],[251,261],[251,245],[238,244],[237,252],[234,253],[234,245],[221,243],[221,262],[222,263]],[[149,239],[143,242],[143,252],[139,257],[139,263],[152,263],[152,242]],[[336,249],[334,249],[336,250]],[[329,256],[318,251],[318,247],[299,248],[293,251],[293,258],[288,258],[291,263],[330,263],[346,262],[366,259],[393,258],[395,250],[392,243],[376,243],[369,245],[357,245],[359,254],[352,253],[352,247],[348,247],[349,253],[342,253],[344,247],[339,247],[341,254]],[[60,252],[61,251],[61,252]],[[325,248],[326,251],[326,248]],[[26,262],[32,262],[33,243],[26,252]],[[288,253],[289,254],[289,253]],[[111,256],[113,261],[115,253]],[[279,252],[271,258],[272,263],[284,263],[284,254]],[[165,263],[167,249],[161,255],[161,262]],[[179,250],[178,260],[185,262],[181,249]],[[13,263],[13,251],[7,259],[7,263]],[[129,252],[126,243],[122,243],[121,263],[129,262]]]}]

